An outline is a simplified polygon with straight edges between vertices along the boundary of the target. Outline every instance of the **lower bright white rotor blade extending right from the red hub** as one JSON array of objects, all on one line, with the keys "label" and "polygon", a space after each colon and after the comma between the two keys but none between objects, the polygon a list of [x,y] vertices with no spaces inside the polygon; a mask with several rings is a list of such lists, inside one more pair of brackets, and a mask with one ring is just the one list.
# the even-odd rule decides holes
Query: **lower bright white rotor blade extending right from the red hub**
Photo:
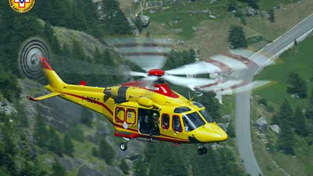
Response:
[{"label": "lower bright white rotor blade extending right from the red hub", "polygon": [[189,77],[180,77],[180,76],[172,76],[172,75],[165,75],[162,77],[166,81],[187,88],[195,88],[198,86],[213,84],[216,82],[215,79],[206,79],[206,78],[189,78]]}]

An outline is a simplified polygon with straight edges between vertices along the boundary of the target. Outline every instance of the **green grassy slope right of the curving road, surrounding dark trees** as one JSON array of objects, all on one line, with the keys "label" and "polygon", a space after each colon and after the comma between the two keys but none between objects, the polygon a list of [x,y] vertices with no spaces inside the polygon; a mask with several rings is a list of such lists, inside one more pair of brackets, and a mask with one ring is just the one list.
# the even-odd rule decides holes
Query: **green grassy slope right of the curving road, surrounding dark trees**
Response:
[{"label": "green grassy slope right of the curving road, surrounding dark trees", "polygon": [[[259,95],[259,97],[266,98],[270,101],[270,104],[275,108],[275,111],[279,110],[279,105],[283,102],[284,98],[287,98],[291,102],[291,106],[295,108],[297,105],[305,108],[307,106],[307,100],[291,98],[286,92],[288,83],[286,82],[288,74],[291,71],[298,73],[305,80],[310,79],[313,76],[313,37],[306,39],[304,42],[298,44],[297,48],[285,52],[279,64],[265,68],[260,75],[257,75],[257,79],[271,79],[277,82],[277,84],[257,90],[253,94]],[[311,89],[313,88],[312,82],[307,82],[308,93],[311,95]],[[256,97],[256,96],[254,96]],[[308,176],[313,173],[313,146],[309,146],[307,141],[303,138],[296,136],[296,155],[286,155],[281,152],[269,153],[267,146],[262,144],[258,140],[255,134],[254,122],[259,115],[266,117],[270,122],[272,114],[266,112],[264,108],[260,108],[256,103],[252,104],[251,109],[251,135],[253,140],[253,147],[255,155],[259,161],[259,164],[266,176],[280,176],[283,175],[277,167],[274,167],[271,163],[273,158],[277,164],[282,167],[287,173],[294,176]],[[273,132],[267,132],[268,139],[274,144],[277,142],[277,135]]]}]

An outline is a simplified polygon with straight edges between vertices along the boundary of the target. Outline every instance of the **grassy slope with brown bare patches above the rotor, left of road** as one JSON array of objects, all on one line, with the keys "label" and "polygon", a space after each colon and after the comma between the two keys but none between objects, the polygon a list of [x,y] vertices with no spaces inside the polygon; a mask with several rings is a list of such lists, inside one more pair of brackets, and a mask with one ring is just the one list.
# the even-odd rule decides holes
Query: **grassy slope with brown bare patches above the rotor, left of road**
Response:
[{"label": "grassy slope with brown bare patches above the rotor, left of road", "polygon": [[[301,3],[292,3],[293,0],[260,0],[261,11],[268,10],[274,5],[283,4],[283,9],[275,10],[275,23],[262,20],[260,17],[246,18],[247,25],[244,26],[246,37],[262,35],[265,40],[272,41],[278,36],[288,31],[296,23],[310,15],[313,11],[313,1],[303,1]],[[123,3],[124,4],[124,3]],[[184,5],[185,4],[185,5]],[[241,7],[246,7],[246,3],[240,3]],[[135,5],[133,5],[135,6]],[[218,1],[209,4],[209,1],[197,1],[188,3],[187,0],[177,0],[176,4],[167,5],[169,9],[162,12],[149,13],[144,11],[145,15],[151,17],[148,30],[154,37],[170,37],[182,39],[185,41],[184,46],[175,46],[178,49],[189,48],[190,46],[201,49],[201,58],[212,54],[222,53],[228,50],[228,27],[230,24],[241,24],[238,18],[235,18],[230,12],[227,12],[227,1]],[[129,11],[129,5],[124,5],[124,11]],[[135,7],[134,7],[135,8]],[[188,10],[209,9],[212,15],[217,19],[212,19],[208,14],[188,15]],[[182,23],[175,24],[175,19],[181,19]],[[173,26],[169,25],[169,22]],[[195,32],[192,26],[199,27],[200,31]],[[182,29],[182,32],[175,32],[175,29]],[[264,43],[262,45],[265,45]],[[253,48],[251,48],[253,49]]]}]

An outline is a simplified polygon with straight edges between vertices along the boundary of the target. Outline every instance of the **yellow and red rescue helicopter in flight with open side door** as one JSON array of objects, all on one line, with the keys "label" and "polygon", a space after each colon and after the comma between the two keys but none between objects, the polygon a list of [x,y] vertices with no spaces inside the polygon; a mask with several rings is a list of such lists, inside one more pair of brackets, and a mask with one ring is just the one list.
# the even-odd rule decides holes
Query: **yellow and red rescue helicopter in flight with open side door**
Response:
[{"label": "yellow and red rescue helicopter in flight with open side door", "polygon": [[165,82],[191,86],[204,82],[214,84],[212,79],[179,77],[171,75],[171,71],[152,69],[147,74],[132,71],[131,75],[145,78],[108,88],[89,87],[85,81],[69,85],[62,81],[45,57],[39,56],[39,61],[49,82],[45,88],[51,93],[27,98],[40,101],[59,96],[102,113],[115,127],[114,135],[126,139],[120,144],[123,151],[127,150],[127,143],[136,138],[150,142],[168,141],[173,146],[199,143],[198,154],[206,154],[205,143],[227,139],[226,132],[211,120],[203,105],[171,90]]}]

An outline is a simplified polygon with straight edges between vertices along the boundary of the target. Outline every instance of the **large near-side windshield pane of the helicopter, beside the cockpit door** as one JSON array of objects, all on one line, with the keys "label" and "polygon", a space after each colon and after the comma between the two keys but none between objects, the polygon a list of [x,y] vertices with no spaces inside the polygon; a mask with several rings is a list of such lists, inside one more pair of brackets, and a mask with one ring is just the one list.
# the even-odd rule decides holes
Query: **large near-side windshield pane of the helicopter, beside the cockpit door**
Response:
[{"label": "large near-side windshield pane of the helicopter, beside the cockpit door", "polygon": [[182,120],[184,122],[186,132],[191,132],[205,124],[198,112],[183,114]]}]

